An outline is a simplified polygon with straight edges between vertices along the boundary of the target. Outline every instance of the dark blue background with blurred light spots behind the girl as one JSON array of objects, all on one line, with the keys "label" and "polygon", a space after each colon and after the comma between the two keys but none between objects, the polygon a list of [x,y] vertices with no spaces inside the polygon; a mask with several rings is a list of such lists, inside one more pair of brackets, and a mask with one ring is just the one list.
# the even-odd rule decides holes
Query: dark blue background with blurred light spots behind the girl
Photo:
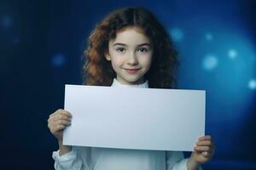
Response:
[{"label": "dark blue background with blurred light spots behind the girl", "polygon": [[53,169],[48,116],[63,108],[64,84],[82,83],[91,29],[126,6],[148,8],[166,26],[178,88],[207,90],[206,133],[217,148],[204,169],[256,169],[255,2],[1,1],[1,169]]}]

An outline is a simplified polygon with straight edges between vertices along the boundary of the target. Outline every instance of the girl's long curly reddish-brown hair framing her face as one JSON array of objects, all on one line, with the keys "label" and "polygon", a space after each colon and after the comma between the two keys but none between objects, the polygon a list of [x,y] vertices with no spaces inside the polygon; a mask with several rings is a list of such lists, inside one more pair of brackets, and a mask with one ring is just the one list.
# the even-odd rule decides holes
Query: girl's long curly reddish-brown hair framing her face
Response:
[{"label": "girl's long curly reddish-brown hair framing her face", "polygon": [[164,26],[146,8],[121,8],[108,14],[91,31],[88,48],[84,51],[84,84],[110,86],[116,73],[111,62],[105,58],[108,42],[119,31],[137,26],[153,42],[153,60],[145,74],[149,88],[177,88],[174,72],[177,69],[177,51]]}]

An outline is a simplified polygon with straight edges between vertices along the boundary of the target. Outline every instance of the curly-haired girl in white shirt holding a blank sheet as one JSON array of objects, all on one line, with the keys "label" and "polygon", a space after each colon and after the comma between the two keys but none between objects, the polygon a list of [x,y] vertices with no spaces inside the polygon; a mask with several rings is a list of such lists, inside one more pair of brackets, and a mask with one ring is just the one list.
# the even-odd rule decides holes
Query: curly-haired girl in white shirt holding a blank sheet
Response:
[{"label": "curly-haired girl in white shirt holding a blank sheet", "polygon": [[[176,88],[177,54],[172,41],[145,8],[122,8],[108,14],[91,32],[84,56],[87,85]],[[201,169],[214,151],[211,136],[199,138],[187,159],[182,151],[67,146],[62,144],[63,129],[71,119],[71,113],[64,110],[55,111],[48,119],[49,130],[59,142],[59,150],[53,152],[58,170],[195,170]]]}]

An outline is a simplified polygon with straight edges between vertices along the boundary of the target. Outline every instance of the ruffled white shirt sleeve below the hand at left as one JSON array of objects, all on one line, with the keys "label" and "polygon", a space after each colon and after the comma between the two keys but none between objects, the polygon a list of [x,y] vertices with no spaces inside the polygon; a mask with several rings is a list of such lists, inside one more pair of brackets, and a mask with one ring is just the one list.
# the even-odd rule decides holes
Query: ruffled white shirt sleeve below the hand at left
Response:
[{"label": "ruffled white shirt sleeve below the hand at left", "polygon": [[[79,148],[72,147],[73,149],[60,156],[60,150],[54,151],[52,154],[53,159],[55,160],[55,170],[89,170],[88,163],[86,162],[87,158],[83,157],[79,154]],[[88,151],[88,150],[83,150]],[[84,156],[88,156],[88,154],[83,154]]]}]

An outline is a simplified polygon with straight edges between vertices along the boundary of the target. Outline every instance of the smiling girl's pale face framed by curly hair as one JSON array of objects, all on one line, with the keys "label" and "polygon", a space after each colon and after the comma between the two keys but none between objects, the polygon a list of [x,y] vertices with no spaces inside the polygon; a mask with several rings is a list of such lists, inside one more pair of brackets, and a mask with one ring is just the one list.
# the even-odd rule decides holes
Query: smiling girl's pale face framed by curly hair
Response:
[{"label": "smiling girl's pale face framed by curly hair", "polygon": [[111,61],[117,81],[122,84],[143,83],[150,68],[153,47],[150,39],[137,27],[119,31],[116,38],[108,42],[106,59]]}]

